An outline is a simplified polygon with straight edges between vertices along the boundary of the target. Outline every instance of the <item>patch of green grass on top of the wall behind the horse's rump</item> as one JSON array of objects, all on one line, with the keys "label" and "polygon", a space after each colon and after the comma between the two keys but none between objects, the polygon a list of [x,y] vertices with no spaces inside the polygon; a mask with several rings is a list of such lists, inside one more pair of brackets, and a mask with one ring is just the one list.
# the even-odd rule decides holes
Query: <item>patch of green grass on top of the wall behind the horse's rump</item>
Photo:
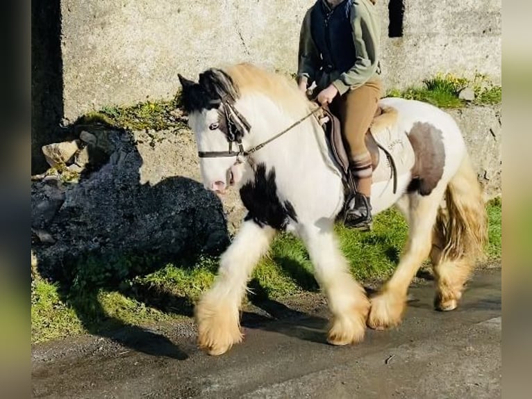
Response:
[{"label": "patch of green grass on top of the wall behind the horse's rump", "polygon": [[460,108],[466,101],[458,98],[461,90],[472,88],[475,93],[473,104],[499,104],[502,99],[501,86],[495,86],[483,74],[476,74],[474,79],[468,80],[452,74],[438,74],[432,79],[423,81],[419,87],[406,90],[392,89],[387,97],[402,97],[426,101],[441,108]]}]

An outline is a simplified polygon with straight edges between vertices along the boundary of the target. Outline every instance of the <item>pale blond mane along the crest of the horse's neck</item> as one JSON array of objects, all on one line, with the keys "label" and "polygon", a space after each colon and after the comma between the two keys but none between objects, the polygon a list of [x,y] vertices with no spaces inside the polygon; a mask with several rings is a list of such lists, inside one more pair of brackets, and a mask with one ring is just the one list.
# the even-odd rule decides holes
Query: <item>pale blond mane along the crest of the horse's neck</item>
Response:
[{"label": "pale blond mane along the crest of the horse's neck", "polygon": [[294,81],[250,63],[240,63],[224,68],[233,80],[240,95],[260,93],[272,99],[280,108],[299,115],[308,112],[310,101],[297,88]]}]

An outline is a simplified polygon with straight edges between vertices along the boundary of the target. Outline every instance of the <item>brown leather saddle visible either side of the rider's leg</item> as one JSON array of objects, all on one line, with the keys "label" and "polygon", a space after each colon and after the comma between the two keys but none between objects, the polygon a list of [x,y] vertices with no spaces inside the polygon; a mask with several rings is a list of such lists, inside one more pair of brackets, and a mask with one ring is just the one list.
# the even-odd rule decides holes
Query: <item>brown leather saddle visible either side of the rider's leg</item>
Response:
[{"label": "brown leather saddle visible either side of the rider's leg", "polygon": [[[333,155],[334,161],[337,163],[340,172],[342,172],[342,181],[347,190],[354,190],[354,179],[351,176],[349,170],[349,156],[347,155],[346,144],[344,142],[344,136],[342,135],[342,128],[340,125],[340,120],[336,115],[334,115],[328,107],[324,107],[323,115],[321,117],[328,117],[328,120],[322,124],[324,129],[325,137]],[[382,115],[385,111],[383,108],[378,107],[374,119]],[[375,170],[379,166],[379,161],[381,160],[381,150],[388,158],[388,163],[390,164],[390,179],[394,180],[394,193],[397,191],[397,169],[395,168],[395,162],[388,152],[388,149],[385,149],[382,145],[377,142],[373,136],[371,129],[367,129],[365,136],[365,144],[369,154],[372,157],[372,170]]]}]

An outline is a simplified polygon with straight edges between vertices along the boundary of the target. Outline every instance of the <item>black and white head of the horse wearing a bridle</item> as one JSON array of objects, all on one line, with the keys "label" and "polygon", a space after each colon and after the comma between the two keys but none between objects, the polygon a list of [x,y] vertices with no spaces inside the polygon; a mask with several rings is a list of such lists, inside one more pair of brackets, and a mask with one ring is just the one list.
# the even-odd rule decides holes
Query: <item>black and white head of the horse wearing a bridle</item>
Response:
[{"label": "black and white head of the horse wearing a bridle", "polygon": [[238,88],[222,70],[206,70],[197,83],[178,76],[188,125],[196,136],[203,184],[223,194],[242,177],[238,152],[249,130],[245,118],[234,108]]}]

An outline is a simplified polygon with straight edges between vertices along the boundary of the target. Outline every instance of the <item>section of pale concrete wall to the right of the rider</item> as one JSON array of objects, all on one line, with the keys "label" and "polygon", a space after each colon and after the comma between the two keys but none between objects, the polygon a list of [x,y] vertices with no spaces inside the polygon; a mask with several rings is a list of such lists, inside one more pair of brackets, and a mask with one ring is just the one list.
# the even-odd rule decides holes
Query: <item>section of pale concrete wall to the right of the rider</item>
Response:
[{"label": "section of pale concrete wall to the right of the rider", "polygon": [[[388,17],[388,1],[381,15]],[[475,72],[501,82],[501,0],[405,0],[404,35],[383,34],[388,87],[419,84],[438,72]]]}]

